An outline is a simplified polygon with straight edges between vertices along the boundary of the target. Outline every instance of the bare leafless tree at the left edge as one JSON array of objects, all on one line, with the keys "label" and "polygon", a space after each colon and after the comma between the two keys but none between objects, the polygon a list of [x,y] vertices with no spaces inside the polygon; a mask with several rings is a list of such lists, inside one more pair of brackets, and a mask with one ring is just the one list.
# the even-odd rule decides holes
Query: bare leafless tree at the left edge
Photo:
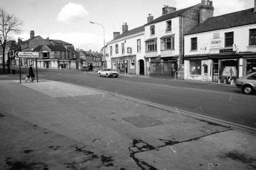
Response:
[{"label": "bare leafless tree at the left edge", "polygon": [[5,73],[5,48],[10,39],[10,33],[20,33],[22,22],[14,14],[8,14],[0,8],[0,38],[3,48],[3,73]]}]

